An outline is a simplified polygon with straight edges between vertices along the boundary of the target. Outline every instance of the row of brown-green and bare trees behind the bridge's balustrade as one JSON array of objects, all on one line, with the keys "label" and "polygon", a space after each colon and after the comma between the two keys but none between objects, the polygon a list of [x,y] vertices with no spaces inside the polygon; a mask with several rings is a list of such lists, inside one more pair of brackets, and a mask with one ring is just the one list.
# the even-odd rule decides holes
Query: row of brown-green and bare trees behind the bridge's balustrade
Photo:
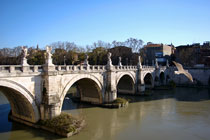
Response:
[{"label": "row of brown-green and bare trees behind the bridge's balustrade", "polygon": [[[107,43],[103,41],[94,42],[92,45],[84,47],[76,45],[74,42],[54,42],[50,44],[52,47],[52,59],[55,65],[76,65],[81,64],[85,60],[85,54],[89,55],[89,64],[91,65],[106,65],[108,49],[114,47],[112,52],[113,64],[118,64],[119,56],[122,57],[122,64],[137,64],[137,57],[140,48],[143,45],[141,39],[129,38],[124,42],[113,41]],[[124,49],[116,49],[117,46],[125,46]],[[27,47],[27,46],[25,46]],[[28,47],[27,47],[28,48]],[[132,51],[127,51],[129,48]],[[0,65],[20,65],[21,63],[21,46],[15,48],[0,49]],[[37,47],[28,48],[28,63],[30,65],[45,64],[45,48]]]}]

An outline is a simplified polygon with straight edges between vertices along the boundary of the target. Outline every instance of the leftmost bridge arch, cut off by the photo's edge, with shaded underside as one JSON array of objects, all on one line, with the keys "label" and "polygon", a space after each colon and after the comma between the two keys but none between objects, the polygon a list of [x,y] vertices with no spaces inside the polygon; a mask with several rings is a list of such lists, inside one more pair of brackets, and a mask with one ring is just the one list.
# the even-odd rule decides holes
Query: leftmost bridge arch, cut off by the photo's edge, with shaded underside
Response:
[{"label": "leftmost bridge arch, cut off by the photo's edge, with shaded underside", "polygon": [[22,85],[6,79],[0,80],[0,91],[8,99],[12,116],[32,123],[40,119],[34,96]]}]

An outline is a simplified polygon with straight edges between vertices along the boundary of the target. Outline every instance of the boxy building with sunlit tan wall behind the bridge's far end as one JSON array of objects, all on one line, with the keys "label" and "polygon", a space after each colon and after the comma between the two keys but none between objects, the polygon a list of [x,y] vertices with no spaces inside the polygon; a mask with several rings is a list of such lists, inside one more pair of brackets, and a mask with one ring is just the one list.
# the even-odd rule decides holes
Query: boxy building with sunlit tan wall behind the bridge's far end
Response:
[{"label": "boxy building with sunlit tan wall behind the bridge's far end", "polygon": [[145,53],[145,65],[154,65],[155,59],[157,59],[158,64],[165,65],[167,60],[171,61],[171,55],[174,54],[175,48],[172,44],[164,45],[148,42],[143,50]]}]

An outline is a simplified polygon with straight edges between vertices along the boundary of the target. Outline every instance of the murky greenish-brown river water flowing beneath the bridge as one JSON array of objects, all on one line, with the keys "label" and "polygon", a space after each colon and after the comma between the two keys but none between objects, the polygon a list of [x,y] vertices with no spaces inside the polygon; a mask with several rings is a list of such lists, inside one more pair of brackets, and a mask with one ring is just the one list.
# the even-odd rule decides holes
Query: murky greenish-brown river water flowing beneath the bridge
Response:
[{"label": "murky greenish-brown river water flowing beneath the bridge", "polygon": [[[63,111],[86,120],[71,140],[210,140],[210,90],[176,88],[151,91],[151,96],[124,96],[126,108],[106,109],[66,99]],[[1,140],[66,139],[9,122],[10,110],[0,93]]]}]

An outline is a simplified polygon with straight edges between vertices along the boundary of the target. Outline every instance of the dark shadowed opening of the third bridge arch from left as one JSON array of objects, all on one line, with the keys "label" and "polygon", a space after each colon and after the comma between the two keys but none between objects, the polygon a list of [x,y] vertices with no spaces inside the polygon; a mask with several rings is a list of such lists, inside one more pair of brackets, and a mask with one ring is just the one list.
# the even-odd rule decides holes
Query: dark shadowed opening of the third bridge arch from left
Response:
[{"label": "dark shadowed opening of the third bridge arch from left", "polygon": [[117,81],[118,94],[135,94],[135,81],[133,77],[128,74],[120,76]]}]

